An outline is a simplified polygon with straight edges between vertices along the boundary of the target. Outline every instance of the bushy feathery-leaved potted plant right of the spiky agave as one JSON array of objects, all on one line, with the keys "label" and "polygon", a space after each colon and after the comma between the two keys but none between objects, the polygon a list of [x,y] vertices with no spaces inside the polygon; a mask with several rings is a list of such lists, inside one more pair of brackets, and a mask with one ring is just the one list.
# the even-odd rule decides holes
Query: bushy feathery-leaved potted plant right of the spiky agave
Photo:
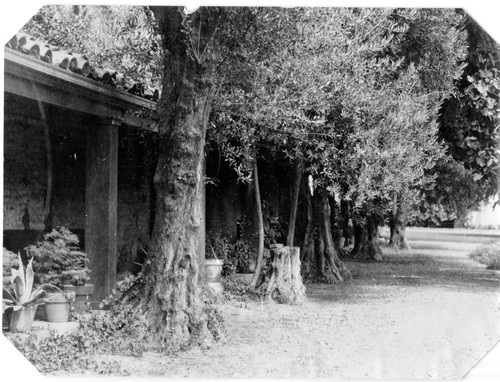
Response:
[{"label": "bushy feathery-leaved potted plant right of the spiky agave", "polygon": [[40,282],[73,292],[76,311],[87,310],[94,285],[87,284],[90,279],[89,260],[79,249],[77,235],[59,227],[45,234],[43,241],[27,247],[26,251],[34,258],[33,266]]}]

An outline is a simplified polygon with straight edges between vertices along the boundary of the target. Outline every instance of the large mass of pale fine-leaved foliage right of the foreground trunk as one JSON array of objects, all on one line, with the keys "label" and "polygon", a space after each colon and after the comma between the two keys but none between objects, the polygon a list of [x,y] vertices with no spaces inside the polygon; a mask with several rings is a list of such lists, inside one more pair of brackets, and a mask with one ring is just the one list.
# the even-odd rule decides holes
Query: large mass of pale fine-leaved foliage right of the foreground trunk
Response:
[{"label": "large mass of pale fine-leaved foliage right of the foreground trunk", "polygon": [[211,135],[241,179],[260,142],[303,157],[317,186],[342,190],[359,208],[424,182],[442,154],[436,105],[465,55],[452,11],[271,8],[252,16]]}]

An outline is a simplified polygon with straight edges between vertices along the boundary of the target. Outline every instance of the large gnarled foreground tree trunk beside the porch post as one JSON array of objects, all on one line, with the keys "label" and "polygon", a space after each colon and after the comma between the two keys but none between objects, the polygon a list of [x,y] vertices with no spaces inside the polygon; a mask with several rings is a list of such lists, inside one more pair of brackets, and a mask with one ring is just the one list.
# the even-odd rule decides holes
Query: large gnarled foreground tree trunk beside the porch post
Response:
[{"label": "large gnarled foreground tree trunk beside the porch post", "polygon": [[[154,8],[167,53],[158,106],[156,216],[139,301],[147,320],[146,340],[168,350],[221,336],[216,312],[202,301],[197,253],[203,240],[202,166],[213,89],[207,80],[210,68],[196,61],[184,43],[181,11]],[[201,44],[214,32],[214,12],[200,8],[190,16],[193,25],[200,24]]]}]

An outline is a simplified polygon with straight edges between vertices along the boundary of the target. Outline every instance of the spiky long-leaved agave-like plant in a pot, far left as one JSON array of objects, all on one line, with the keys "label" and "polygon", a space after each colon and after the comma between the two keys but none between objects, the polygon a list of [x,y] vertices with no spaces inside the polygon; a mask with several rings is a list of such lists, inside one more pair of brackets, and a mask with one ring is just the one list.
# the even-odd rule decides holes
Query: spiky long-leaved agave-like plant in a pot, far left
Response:
[{"label": "spiky long-leaved agave-like plant in a pot, far left", "polygon": [[11,312],[9,327],[11,332],[21,332],[31,328],[38,305],[47,301],[46,289],[58,289],[51,284],[43,284],[33,290],[34,272],[31,259],[24,272],[21,255],[18,255],[18,269],[11,270],[12,287],[3,289],[2,312]]}]

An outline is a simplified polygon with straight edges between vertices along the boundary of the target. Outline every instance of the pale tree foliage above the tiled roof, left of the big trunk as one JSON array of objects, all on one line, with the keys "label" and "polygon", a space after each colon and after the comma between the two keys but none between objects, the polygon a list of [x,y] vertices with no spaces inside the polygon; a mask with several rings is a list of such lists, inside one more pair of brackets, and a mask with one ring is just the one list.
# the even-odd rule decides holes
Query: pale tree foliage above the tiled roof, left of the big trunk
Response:
[{"label": "pale tree foliage above the tiled roof, left of the big trunk", "polygon": [[161,38],[147,7],[47,5],[23,27],[55,49],[85,54],[96,67],[118,71],[117,86],[161,89]]}]

